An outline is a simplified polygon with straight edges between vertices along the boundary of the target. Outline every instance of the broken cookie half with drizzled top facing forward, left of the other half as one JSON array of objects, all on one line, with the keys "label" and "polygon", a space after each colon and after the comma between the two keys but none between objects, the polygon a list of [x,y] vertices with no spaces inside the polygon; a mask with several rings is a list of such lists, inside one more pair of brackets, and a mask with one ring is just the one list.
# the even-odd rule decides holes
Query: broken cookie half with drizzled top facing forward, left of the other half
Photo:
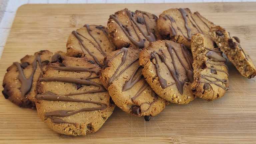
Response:
[{"label": "broken cookie half with drizzled top facing forward, left of the other half", "polygon": [[224,96],[229,89],[228,67],[222,52],[209,36],[196,34],[191,39],[194,81],[193,93],[207,101]]}]

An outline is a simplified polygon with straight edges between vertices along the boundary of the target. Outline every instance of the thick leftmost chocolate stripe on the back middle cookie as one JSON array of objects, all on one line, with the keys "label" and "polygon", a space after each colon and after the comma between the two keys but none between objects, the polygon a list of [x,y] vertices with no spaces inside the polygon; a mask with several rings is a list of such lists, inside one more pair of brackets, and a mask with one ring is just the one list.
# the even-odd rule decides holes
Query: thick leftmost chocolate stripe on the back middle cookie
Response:
[{"label": "thick leftmost chocolate stripe on the back middle cookie", "polygon": [[[136,41],[133,37],[131,37],[129,35],[129,33],[124,29],[124,27],[122,26],[121,22],[116,18],[115,15],[110,15],[109,16],[111,19],[113,19],[119,26],[120,28],[123,30],[123,32],[125,33],[125,35],[128,37],[128,39],[134,44],[136,45],[138,48],[144,48],[144,41],[143,39],[141,39],[139,36],[139,41]],[[133,23],[132,23],[133,25]],[[134,27],[134,26],[133,26]],[[135,31],[136,32],[136,31]],[[137,33],[137,32],[136,32]]]}]

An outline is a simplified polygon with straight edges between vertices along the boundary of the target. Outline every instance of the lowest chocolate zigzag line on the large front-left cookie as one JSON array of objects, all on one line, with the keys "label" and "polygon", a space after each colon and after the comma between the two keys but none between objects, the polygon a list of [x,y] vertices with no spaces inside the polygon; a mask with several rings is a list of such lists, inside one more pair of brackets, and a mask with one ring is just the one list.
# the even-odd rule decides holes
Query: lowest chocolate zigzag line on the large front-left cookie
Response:
[{"label": "lowest chocolate zigzag line on the large front-left cookie", "polygon": [[[79,100],[79,99],[71,99],[71,98],[68,98],[68,97],[63,97],[63,96],[56,95],[52,92],[45,92],[45,93],[42,93],[42,94],[38,94],[38,95],[36,95],[36,98],[40,99],[40,100],[49,100],[49,101],[84,102],[84,103],[92,103],[92,104],[100,105],[100,107],[83,108],[83,109],[80,109],[80,110],[77,110],[77,111],[58,110],[58,111],[45,113],[45,116],[52,119],[53,123],[71,123],[71,122],[67,122],[67,121],[64,121],[62,119],[55,118],[55,117],[65,117],[65,116],[70,116],[70,115],[73,115],[73,114],[76,114],[76,113],[79,113],[79,112],[83,112],[83,111],[104,110],[104,109],[107,108],[107,105],[104,104],[104,103],[87,101],[87,100]],[[75,124],[75,123],[71,123],[71,124]]]}]

